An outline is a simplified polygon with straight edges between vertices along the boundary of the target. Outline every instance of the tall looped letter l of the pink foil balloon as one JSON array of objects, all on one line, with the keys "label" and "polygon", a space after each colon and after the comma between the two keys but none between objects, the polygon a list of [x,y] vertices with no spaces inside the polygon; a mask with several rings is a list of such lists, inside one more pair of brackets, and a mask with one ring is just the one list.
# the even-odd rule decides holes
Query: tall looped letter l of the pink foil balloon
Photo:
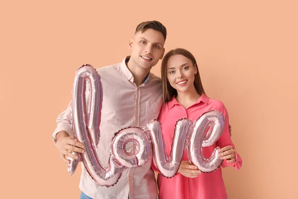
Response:
[{"label": "tall looped letter l of the pink foil balloon", "polygon": [[[86,82],[89,85],[89,103],[86,106]],[[86,112],[88,107],[88,112]],[[126,168],[113,154],[110,155],[107,168],[104,168],[96,155],[99,142],[100,116],[102,107],[102,85],[100,76],[91,65],[84,65],[76,71],[72,101],[72,125],[75,139],[85,145],[85,153],[79,159],[71,159],[69,172],[74,173],[77,163],[82,161],[91,178],[101,186],[113,186]],[[117,143],[115,143],[117,144]]]}]

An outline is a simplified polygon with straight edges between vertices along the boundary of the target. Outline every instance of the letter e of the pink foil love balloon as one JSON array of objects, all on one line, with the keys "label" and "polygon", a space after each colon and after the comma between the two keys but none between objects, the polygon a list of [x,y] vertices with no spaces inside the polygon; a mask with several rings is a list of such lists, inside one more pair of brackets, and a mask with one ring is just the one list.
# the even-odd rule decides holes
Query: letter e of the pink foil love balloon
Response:
[{"label": "letter e of the pink foil love balloon", "polygon": [[[211,157],[208,159],[204,157],[202,151],[202,147],[214,144],[221,137],[223,130],[224,115],[217,110],[205,112],[192,123],[189,130],[187,155],[189,160],[204,173],[215,171],[223,162],[218,156],[219,147],[214,149]],[[205,136],[206,132],[207,135]]]}]

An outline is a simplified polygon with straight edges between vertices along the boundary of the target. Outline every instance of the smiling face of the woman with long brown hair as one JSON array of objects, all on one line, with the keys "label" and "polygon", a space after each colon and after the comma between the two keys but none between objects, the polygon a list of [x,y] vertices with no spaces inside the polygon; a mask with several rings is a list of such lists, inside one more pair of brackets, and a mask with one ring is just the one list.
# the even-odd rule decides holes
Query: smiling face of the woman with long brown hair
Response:
[{"label": "smiling face of the woman with long brown hair", "polygon": [[173,55],[167,62],[167,79],[177,92],[193,91],[197,68],[183,55]]}]

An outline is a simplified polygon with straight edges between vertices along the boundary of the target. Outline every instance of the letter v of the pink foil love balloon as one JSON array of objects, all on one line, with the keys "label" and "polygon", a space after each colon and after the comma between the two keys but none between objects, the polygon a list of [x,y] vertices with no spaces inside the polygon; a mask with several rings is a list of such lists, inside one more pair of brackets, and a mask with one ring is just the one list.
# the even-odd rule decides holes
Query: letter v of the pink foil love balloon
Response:
[{"label": "letter v of the pink foil love balloon", "polygon": [[180,119],[176,122],[170,157],[166,153],[160,122],[153,120],[147,124],[151,138],[153,163],[164,177],[173,177],[179,169],[190,123],[188,119]]}]

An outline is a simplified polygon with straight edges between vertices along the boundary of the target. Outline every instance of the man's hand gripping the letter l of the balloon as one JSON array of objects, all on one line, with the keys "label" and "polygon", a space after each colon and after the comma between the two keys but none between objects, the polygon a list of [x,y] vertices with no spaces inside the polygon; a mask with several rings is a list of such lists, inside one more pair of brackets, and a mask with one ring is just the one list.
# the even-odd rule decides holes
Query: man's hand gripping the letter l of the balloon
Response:
[{"label": "man's hand gripping the letter l of the balloon", "polygon": [[65,156],[73,159],[78,158],[76,155],[73,155],[70,151],[75,151],[79,153],[85,152],[85,146],[82,143],[73,140],[72,137],[69,137],[66,131],[60,131],[57,134],[56,145],[58,146],[61,159],[67,164],[70,164],[70,161],[66,159]]}]

